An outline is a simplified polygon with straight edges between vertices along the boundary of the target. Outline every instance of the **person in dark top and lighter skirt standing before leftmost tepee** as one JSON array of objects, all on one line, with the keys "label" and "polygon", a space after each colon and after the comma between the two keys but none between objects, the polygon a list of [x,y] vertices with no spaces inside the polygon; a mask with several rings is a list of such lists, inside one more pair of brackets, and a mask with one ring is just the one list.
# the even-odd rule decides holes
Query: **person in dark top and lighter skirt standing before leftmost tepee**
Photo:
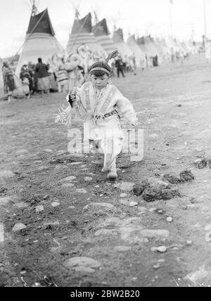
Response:
[{"label": "person in dark top and lighter skirt standing before leftmost tepee", "polygon": [[41,97],[43,92],[49,95],[50,92],[50,80],[49,80],[49,67],[42,63],[41,58],[38,58],[38,64],[36,66],[37,78],[38,78],[38,90],[41,90]]}]

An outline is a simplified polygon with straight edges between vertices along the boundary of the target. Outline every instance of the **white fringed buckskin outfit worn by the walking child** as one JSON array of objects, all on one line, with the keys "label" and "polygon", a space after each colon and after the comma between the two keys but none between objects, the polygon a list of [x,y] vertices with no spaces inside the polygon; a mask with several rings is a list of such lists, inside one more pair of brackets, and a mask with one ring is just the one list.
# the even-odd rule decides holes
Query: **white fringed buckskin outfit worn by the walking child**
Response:
[{"label": "white fringed buckskin outfit worn by the walking child", "polygon": [[89,127],[89,134],[85,139],[92,146],[95,141],[101,142],[105,155],[102,172],[116,173],[116,158],[122,151],[124,141],[118,113],[130,124],[135,124],[137,118],[132,103],[113,84],[107,84],[100,90],[92,82],[77,89],[76,99],[77,106],[82,105],[87,113],[85,122],[86,127]]}]

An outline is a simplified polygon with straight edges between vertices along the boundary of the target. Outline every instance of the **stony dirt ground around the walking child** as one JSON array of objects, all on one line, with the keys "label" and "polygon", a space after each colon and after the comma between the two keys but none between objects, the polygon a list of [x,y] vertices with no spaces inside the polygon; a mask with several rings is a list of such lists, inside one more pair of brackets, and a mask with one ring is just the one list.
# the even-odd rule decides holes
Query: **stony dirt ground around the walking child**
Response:
[{"label": "stony dirt ground around the walking child", "polygon": [[[210,155],[210,65],[200,55],[113,82],[144,129],[143,160],[120,155],[115,184],[101,155],[68,153],[67,129],[54,123],[65,94],[0,103],[0,286],[211,285],[211,175],[194,164]],[[186,169],[195,179],[172,184],[180,196],[134,196],[133,183]],[[25,229],[14,231],[18,223]],[[96,261],[71,265],[74,257]]]}]

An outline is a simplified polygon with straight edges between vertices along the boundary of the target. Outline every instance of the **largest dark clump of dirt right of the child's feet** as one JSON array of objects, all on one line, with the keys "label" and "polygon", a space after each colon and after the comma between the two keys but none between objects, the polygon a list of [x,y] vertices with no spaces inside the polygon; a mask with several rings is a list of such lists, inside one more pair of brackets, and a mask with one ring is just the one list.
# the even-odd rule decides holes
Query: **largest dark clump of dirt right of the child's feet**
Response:
[{"label": "largest dark clump of dirt right of the child's feet", "polygon": [[135,196],[142,196],[146,202],[155,200],[171,200],[175,197],[180,197],[181,194],[177,189],[173,189],[170,185],[162,181],[154,181],[149,183],[147,180],[141,184],[136,184],[133,188]]}]

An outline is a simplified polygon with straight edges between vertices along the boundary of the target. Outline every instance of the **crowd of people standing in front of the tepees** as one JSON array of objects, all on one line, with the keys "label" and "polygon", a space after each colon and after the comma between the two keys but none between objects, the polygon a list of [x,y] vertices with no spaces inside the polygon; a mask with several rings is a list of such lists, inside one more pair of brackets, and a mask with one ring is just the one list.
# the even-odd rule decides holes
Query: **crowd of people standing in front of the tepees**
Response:
[{"label": "crowd of people standing in front of the tepees", "polygon": [[[188,58],[183,53],[172,51],[170,56],[171,63]],[[37,63],[25,62],[20,70],[20,80],[22,83],[22,94],[26,98],[36,95],[38,92],[49,94],[50,91],[68,92],[73,87],[82,87],[84,82],[89,80],[89,68],[93,63],[103,60],[103,54],[91,53],[89,49],[80,47],[77,52],[72,53],[68,58],[60,58],[56,54],[47,62],[42,58],[37,58]],[[141,70],[146,68],[157,67],[160,64],[158,55],[143,56],[139,62],[136,61],[134,53],[132,56],[122,56],[117,53],[111,66],[113,77],[125,77],[125,74],[131,72],[136,75],[137,65]],[[7,62],[4,62],[2,68],[4,76],[4,93],[8,96],[9,101],[13,97],[13,92],[17,89],[15,75]]]}]

